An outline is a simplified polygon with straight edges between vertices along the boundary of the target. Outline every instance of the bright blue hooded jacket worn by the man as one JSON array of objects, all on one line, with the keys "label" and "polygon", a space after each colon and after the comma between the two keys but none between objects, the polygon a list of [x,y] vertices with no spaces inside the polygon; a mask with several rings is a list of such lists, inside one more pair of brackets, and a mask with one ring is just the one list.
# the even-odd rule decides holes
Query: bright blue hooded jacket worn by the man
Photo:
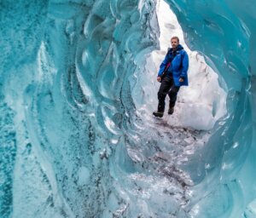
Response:
[{"label": "bright blue hooded jacket worn by the man", "polygon": [[[169,62],[171,62],[171,65],[168,67],[166,75],[172,75],[175,86],[189,85],[189,55],[180,44],[177,45],[176,52],[173,52],[173,49],[168,50],[165,60],[160,65],[158,77],[162,76]],[[178,81],[180,77],[183,78],[183,83]]]}]

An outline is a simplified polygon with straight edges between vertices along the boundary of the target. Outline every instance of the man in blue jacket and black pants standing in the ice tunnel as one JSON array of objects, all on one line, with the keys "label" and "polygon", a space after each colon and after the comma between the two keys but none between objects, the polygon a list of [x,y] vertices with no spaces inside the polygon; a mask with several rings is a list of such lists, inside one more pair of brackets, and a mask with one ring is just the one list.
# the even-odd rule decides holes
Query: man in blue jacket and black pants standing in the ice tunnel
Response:
[{"label": "man in blue jacket and black pants standing in the ice tunnel", "polygon": [[164,116],[166,95],[170,97],[168,114],[172,114],[179,88],[189,85],[189,56],[179,44],[178,37],[172,37],[171,44],[172,49],[168,50],[165,60],[161,63],[157,77],[157,81],[161,83],[158,92],[159,104],[157,112],[153,112],[153,115],[159,118]]}]

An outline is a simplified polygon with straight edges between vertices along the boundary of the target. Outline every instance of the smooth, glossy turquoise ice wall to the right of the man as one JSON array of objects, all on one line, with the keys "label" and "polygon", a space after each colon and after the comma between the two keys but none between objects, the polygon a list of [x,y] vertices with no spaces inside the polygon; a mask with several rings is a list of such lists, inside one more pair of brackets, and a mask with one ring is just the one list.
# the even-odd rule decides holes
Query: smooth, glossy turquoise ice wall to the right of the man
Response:
[{"label": "smooth, glossy turquoise ice wall to the right of the man", "polygon": [[[254,217],[255,4],[253,1],[168,1],[191,49],[216,66],[228,90],[229,115],[202,152],[204,176],[195,217]],[[199,201],[199,202],[198,202]],[[247,208],[247,209],[246,209]],[[246,212],[244,212],[246,210]]]}]

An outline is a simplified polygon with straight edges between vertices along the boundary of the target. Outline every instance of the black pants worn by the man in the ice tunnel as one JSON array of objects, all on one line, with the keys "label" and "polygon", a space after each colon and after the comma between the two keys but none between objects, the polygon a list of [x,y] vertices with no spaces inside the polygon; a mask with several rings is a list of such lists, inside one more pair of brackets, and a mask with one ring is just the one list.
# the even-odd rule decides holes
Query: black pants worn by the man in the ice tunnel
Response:
[{"label": "black pants worn by the man in the ice tunnel", "polygon": [[175,102],[177,100],[177,92],[179,88],[179,86],[175,86],[173,78],[171,76],[166,75],[166,77],[162,79],[162,83],[158,91],[158,112],[165,112],[165,100],[167,94],[170,97],[170,106],[175,106]]}]

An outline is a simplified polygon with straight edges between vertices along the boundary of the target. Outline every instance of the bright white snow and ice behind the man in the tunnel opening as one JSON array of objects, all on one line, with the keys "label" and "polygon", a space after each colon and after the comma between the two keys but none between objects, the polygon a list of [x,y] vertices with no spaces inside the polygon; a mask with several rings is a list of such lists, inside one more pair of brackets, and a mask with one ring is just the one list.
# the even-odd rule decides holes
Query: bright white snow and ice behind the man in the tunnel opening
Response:
[{"label": "bright white snow and ice behind the man in the tunnel opening", "polygon": [[[166,97],[166,111],[164,118],[172,126],[189,127],[192,129],[212,129],[218,118],[226,114],[226,93],[219,87],[218,74],[212,70],[201,54],[190,51],[184,43],[183,31],[177,22],[176,15],[163,0],[158,1],[157,14],[160,26],[160,50],[154,51],[147,60],[147,74],[151,80],[144,86],[146,93],[144,105],[139,112],[152,114],[157,109],[157,92],[160,83],[156,82],[157,72],[164,60],[170,39],[177,36],[180,44],[189,54],[189,86],[182,87],[177,95],[177,104],[172,116],[167,114],[169,98]],[[153,83],[152,83],[153,80]],[[151,115],[150,115],[151,116]]]}]

